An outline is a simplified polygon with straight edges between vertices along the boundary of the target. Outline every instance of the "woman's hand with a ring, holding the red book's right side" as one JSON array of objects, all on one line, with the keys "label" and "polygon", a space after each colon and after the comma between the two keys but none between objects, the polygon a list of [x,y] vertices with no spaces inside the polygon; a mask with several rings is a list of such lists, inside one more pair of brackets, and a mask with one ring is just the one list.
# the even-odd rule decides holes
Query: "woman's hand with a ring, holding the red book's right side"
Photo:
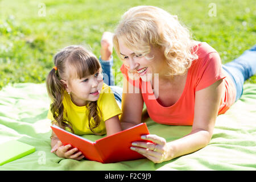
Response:
[{"label": "woman's hand with a ring, holding the red book's right side", "polygon": [[168,147],[166,139],[157,135],[142,135],[142,139],[151,140],[150,142],[133,142],[131,150],[137,151],[154,163],[162,163],[168,159]]}]

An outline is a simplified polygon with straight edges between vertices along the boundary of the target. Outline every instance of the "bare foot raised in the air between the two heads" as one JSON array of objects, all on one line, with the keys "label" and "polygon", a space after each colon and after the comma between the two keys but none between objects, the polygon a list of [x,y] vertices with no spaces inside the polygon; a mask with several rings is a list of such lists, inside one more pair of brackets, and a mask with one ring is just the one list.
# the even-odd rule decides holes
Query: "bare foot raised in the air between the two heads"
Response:
[{"label": "bare foot raised in the air between the two heads", "polygon": [[101,59],[104,61],[110,60],[113,53],[113,33],[104,32],[101,38]]}]

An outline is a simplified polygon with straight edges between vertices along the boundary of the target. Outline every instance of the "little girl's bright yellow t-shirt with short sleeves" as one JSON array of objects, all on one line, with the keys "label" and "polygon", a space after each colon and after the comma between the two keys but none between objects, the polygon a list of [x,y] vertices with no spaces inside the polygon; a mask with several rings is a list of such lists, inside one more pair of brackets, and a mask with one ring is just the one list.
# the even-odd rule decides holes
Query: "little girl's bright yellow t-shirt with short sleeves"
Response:
[{"label": "little girl's bright yellow t-shirt with short sleeves", "polygon": [[[105,121],[115,115],[122,114],[114,94],[110,87],[105,83],[102,86],[100,97],[97,100],[98,109],[101,110],[102,121],[93,131],[106,134]],[[71,101],[70,95],[65,92],[63,98],[64,113],[63,118],[72,123],[72,128],[76,135],[93,134],[89,129],[88,114],[86,106],[77,106]],[[54,120],[51,110],[48,111],[47,118]],[[93,119],[93,118],[92,118]],[[91,119],[91,121],[92,121]]]}]

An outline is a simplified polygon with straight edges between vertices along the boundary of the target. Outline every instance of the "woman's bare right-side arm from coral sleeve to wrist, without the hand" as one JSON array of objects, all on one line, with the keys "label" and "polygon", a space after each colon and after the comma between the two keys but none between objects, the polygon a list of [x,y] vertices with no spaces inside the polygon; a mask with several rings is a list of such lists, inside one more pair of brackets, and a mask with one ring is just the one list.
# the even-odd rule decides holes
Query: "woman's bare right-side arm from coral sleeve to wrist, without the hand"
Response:
[{"label": "woman's bare right-side arm from coral sleeve to wrist, without the hand", "polygon": [[192,131],[168,144],[172,148],[172,158],[195,152],[208,145],[212,138],[223,89],[224,82],[221,79],[196,92]]}]

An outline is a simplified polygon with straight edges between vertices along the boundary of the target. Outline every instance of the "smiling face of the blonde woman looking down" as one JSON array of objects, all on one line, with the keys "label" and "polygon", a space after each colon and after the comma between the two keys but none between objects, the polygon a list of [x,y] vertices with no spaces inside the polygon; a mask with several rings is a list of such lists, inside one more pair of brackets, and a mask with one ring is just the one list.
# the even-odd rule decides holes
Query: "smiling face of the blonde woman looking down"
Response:
[{"label": "smiling face of the blonde woman looking down", "polygon": [[151,81],[155,74],[163,75],[165,61],[164,54],[160,49],[151,47],[150,53],[146,56],[140,56],[125,47],[119,40],[118,44],[119,53],[123,57],[126,67],[135,73],[135,76],[141,77],[143,81]]}]

